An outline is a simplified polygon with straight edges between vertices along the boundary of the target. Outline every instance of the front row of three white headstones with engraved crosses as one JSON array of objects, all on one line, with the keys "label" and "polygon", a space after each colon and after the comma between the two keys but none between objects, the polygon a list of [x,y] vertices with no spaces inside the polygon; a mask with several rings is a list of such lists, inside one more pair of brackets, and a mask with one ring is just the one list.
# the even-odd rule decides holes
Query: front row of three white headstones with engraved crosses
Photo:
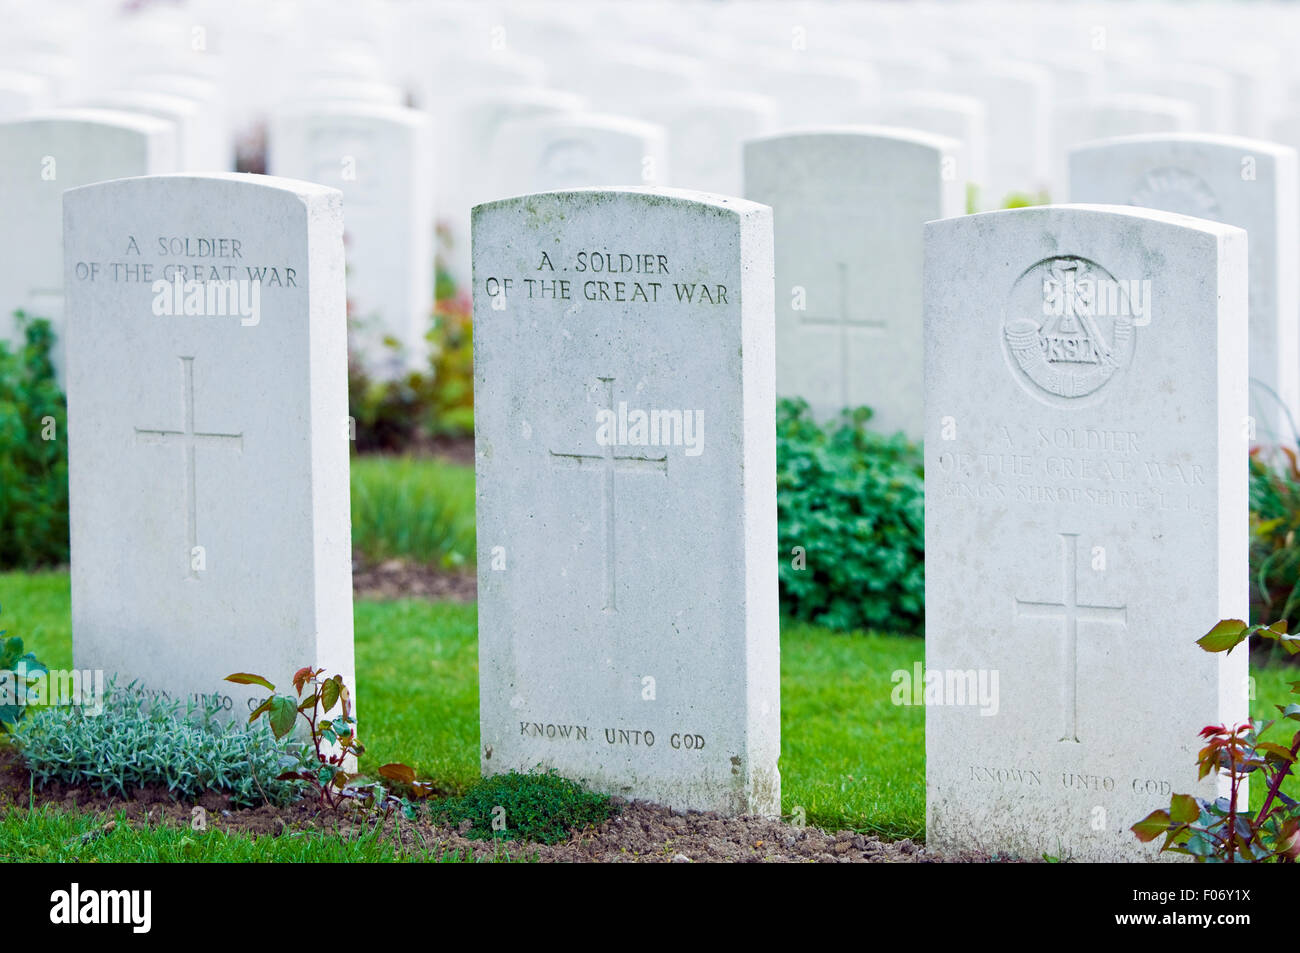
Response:
[{"label": "front row of three white headstones with engraved crosses", "polygon": [[[185,697],[350,677],[339,194],[165,176],[64,205],[77,666]],[[772,216],[478,208],[485,771],[780,810]],[[1244,714],[1243,658],[1184,634],[1244,612],[1245,231],[1080,205],[924,241],[930,837],[1144,855],[1154,798],[1213,788],[1195,725]],[[152,280],[204,242],[195,313]]]}]

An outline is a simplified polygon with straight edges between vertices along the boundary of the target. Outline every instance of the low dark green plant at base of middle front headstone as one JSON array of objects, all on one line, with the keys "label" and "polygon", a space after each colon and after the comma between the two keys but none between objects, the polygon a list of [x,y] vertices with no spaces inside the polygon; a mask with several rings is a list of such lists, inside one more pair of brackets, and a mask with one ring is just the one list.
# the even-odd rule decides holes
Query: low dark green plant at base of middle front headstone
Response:
[{"label": "low dark green plant at base of middle front headstone", "polygon": [[451,824],[469,820],[467,837],[559,844],[572,831],[604,823],[615,807],[604,794],[586,790],[554,771],[533,775],[511,771],[484,777],[462,797],[433,805],[430,813]]}]

